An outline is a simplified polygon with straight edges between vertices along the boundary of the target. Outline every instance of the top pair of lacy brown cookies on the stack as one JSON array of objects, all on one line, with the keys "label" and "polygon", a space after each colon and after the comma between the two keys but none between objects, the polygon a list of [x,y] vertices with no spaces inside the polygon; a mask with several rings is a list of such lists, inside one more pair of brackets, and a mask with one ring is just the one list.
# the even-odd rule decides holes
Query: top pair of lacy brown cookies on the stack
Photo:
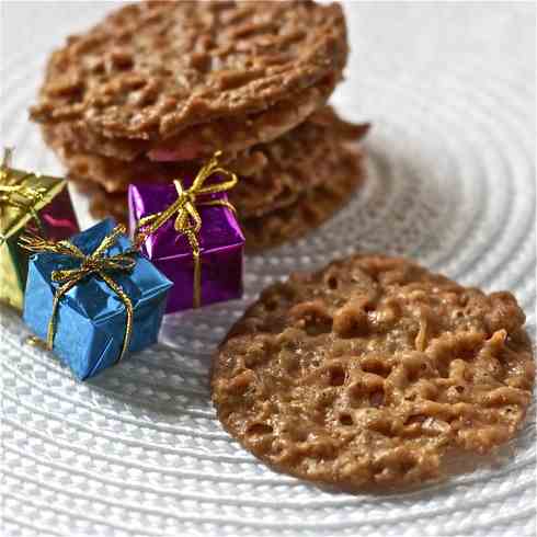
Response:
[{"label": "top pair of lacy brown cookies on the stack", "polygon": [[178,136],[187,151],[183,135],[203,125],[186,138],[181,158],[191,160],[219,149],[212,140],[248,147],[304,121],[346,56],[339,4],[141,2],[53,54],[32,117],[56,138],[125,159],[160,159]]}]

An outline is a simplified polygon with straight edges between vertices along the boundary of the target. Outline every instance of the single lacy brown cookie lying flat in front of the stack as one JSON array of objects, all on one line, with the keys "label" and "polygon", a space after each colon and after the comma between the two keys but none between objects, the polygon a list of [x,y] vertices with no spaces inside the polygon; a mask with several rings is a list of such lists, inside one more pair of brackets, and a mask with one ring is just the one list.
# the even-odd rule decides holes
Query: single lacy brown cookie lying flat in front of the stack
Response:
[{"label": "single lacy brown cookie lying flat in front of the stack", "polygon": [[510,293],[356,255],[268,287],[214,363],[224,426],[276,469],[342,488],[443,477],[507,442],[535,363]]}]

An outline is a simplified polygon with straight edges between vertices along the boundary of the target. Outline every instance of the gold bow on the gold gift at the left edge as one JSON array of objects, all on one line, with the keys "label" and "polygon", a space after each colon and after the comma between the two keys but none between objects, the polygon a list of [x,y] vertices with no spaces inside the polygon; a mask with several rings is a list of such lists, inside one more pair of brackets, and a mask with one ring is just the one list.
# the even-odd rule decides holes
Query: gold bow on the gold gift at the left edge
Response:
[{"label": "gold bow on the gold gift at the left edge", "polygon": [[46,188],[34,188],[25,185],[24,180],[31,178],[31,173],[26,173],[20,178],[13,176],[10,173],[12,155],[13,149],[5,148],[3,151],[2,163],[0,165],[0,215],[7,205],[21,210],[27,210],[37,224],[39,230],[43,231],[43,225],[34,208],[34,205],[37,202],[43,201],[43,195],[46,193]]}]

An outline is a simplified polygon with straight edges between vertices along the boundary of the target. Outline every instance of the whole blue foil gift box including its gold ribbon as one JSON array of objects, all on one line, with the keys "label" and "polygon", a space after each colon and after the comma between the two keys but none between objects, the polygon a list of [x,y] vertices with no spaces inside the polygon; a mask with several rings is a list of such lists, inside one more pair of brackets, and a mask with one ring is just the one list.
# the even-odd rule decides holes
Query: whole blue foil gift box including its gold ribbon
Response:
[{"label": "whole blue foil gift box including its gold ribbon", "polygon": [[171,282],[113,220],[49,242],[23,237],[30,260],[24,322],[79,379],[158,339]]}]

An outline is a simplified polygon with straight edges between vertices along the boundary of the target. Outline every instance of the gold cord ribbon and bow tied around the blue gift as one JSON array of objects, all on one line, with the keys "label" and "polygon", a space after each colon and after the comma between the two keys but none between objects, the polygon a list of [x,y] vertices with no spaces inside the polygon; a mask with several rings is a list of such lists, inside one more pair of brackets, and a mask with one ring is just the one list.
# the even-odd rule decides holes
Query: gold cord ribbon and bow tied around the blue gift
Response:
[{"label": "gold cord ribbon and bow tied around the blue gift", "polygon": [[123,346],[117,362],[119,362],[125,355],[130,336],[133,333],[133,317],[134,308],[130,298],[123,290],[122,286],[117,284],[111,276],[111,272],[124,272],[132,271],[136,265],[136,261],[132,258],[135,250],[127,250],[123,253],[106,256],[106,251],[116,243],[121,235],[126,233],[125,226],[116,226],[113,231],[106,236],[101,243],[89,255],[84,254],[78,247],[67,240],[59,242],[52,242],[42,239],[37,236],[23,236],[20,239],[20,244],[25,250],[33,253],[57,253],[59,255],[67,255],[80,261],[78,268],[67,268],[62,271],[54,271],[52,274],[53,282],[60,283],[61,285],[56,289],[56,294],[53,300],[53,312],[50,313],[50,320],[48,322],[47,332],[47,349],[53,350],[54,335],[56,330],[56,315],[61,297],[66,295],[72,287],[79,284],[84,277],[92,274],[100,276],[106,285],[119,297],[125,305],[127,312],[127,322],[125,327],[125,336],[123,339]]}]

